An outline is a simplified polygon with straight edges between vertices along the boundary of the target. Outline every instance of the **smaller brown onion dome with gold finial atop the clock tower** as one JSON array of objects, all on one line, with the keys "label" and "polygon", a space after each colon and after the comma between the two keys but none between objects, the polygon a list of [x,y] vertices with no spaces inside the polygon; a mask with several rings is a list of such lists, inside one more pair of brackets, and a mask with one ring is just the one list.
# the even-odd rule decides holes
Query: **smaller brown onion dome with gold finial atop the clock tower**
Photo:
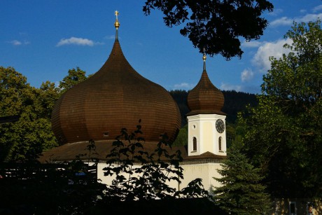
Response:
[{"label": "smaller brown onion dome with gold finial atop the clock tower", "polygon": [[199,83],[188,94],[188,115],[195,114],[225,114],[221,111],[224,104],[223,92],[218,90],[209,80],[206,71],[206,55],[203,56],[204,70]]}]

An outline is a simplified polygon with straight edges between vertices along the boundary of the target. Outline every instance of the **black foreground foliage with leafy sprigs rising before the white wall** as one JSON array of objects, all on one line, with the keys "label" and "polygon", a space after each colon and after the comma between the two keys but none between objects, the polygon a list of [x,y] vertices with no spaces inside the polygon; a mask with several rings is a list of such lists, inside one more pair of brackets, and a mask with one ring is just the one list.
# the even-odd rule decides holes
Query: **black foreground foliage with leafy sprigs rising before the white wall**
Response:
[{"label": "black foreground foliage with leafy sprigs rising before the white wall", "polygon": [[[114,141],[105,169],[106,175],[116,176],[110,186],[97,181],[99,160],[90,158],[95,154],[92,140],[89,154],[71,162],[1,162],[0,214],[223,214],[209,200],[201,179],[180,191],[169,187],[167,181],[183,179],[180,152],[169,154],[162,136],[148,154],[139,134],[139,125],[132,133],[122,129]],[[138,161],[141,167],[134,167]]]}]

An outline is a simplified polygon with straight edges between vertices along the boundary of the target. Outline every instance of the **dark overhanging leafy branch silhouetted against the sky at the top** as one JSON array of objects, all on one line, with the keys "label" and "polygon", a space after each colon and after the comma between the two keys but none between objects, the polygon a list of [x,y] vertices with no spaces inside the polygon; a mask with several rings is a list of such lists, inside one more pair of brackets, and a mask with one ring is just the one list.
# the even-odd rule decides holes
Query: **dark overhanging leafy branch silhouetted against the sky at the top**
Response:
[{"label": "dark overhanging leafy branch silhouetted against the sky at the top", "polygon": [[208,55],[221,54],[227,60],[241,57],[243,51],[239,39],[259,39],[267,27],[267,20],[260,17],[264,11],[272,11],[266,0],[146,0],[146,15],[158,9],[165,15],[167,27],[186,24],[180,33],[188,36],[193,46]]}]

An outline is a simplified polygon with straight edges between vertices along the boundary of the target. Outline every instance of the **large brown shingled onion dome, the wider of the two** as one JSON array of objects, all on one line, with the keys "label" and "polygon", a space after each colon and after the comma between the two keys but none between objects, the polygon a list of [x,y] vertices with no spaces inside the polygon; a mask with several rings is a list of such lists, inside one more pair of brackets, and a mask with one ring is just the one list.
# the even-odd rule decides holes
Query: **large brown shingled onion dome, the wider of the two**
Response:
[{"label": "large brown shingled onion dome, the wider of the two", "polygon": [[116,38],[109,59],[96,74],[67,90],[52,112],[52,129],[63,144],[115,139],[141,119],[146,141],[167,133],[174,140],[181,116],[172,96],[135,71]]}]

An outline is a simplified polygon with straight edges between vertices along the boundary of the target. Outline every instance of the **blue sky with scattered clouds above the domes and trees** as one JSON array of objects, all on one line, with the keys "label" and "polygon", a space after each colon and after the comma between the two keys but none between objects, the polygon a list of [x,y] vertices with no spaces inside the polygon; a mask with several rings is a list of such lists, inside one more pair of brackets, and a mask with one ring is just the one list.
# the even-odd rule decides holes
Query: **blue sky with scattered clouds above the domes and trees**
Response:
[{"label": "blue sky with scattered clouds above the domes and trees", "polygon": [[[257,41],[242,39],[244,55],[226,61],[207,57],[209,78],[221,90],[260,93],[269,56],[280,57],[283,36],[295,22],[322,18],[321,0],[274,0],[269,26]],[[166,27],[160,11],[145,16],[144,0],[1,0],[0,66],[14,67],[39,87],[59,83],[69,69],[93,74],[109,57],[115,40],[114,11],[120,12],[123,53],[142,76],[167,90],[191,90],[202,74],[202,54],[182,27]]]}]

